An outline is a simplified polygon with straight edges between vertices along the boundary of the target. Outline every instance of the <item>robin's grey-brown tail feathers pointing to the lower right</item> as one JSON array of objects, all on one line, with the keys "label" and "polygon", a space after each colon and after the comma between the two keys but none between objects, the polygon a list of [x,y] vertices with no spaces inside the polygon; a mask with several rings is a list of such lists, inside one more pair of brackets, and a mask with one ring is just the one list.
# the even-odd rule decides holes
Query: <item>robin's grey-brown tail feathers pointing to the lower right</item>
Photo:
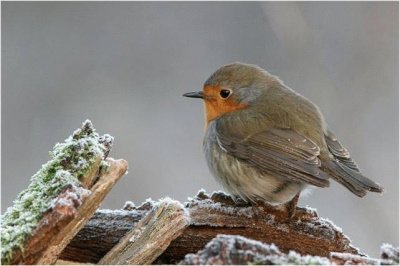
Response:
[{"label": "robin's grey-brown tail feathers pointing to the lower right", "polygon": [[359,197],[364,197],[367,191],[383,192],[383,188],[374,181],[337,160],[324,162],[323,167],[333,179]]}]

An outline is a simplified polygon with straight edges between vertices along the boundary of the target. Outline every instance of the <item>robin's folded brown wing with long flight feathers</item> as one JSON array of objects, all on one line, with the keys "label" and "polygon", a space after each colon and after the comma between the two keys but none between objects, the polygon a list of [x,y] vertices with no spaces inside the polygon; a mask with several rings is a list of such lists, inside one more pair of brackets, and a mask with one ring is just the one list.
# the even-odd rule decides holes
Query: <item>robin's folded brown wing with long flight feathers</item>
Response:
[{"label": "robin's folded brown wing with long flight feathers", "polygon": [[319,147],[293,130],[270,128],[245,138],[218,132],[217,138],[221,148],[262,172],[329,186],[328,176],[319,168]]}]

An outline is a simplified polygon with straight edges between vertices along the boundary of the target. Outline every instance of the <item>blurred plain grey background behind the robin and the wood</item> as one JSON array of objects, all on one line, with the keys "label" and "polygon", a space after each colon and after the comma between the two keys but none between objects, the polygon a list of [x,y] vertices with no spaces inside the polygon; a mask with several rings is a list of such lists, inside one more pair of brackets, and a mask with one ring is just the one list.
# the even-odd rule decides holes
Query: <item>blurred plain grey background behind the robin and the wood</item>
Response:
[{"label": "blurred plain grey background behind the robin and the wood", "polygon": [[202,154],[200,90],[219,66],[258,64],[317,103],[362,171],[386,188],[339,185],[318,209],[378,256],[399,239],[397,2],[2,2],[1,206],[86,118],[130,163],[103,207],[220,187]]}]

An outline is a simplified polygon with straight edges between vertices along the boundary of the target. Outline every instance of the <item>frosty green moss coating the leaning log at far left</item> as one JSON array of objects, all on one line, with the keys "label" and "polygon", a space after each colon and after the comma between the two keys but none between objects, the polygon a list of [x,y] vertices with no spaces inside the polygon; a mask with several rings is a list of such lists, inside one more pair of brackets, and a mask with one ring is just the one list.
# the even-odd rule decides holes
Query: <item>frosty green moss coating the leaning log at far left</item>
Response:
[{"label": "frosty green moss coating the leaning log at far left", "polygon": [[99,139],[92,123],[86,120],[65,142],[54,146],[51,160],[31,177],[28,188],[19,193],[14,205],[1,217],[2,264],[9,264],[17,249],[23,252],[27,237],[62,188],[79,185],[79,179],[94,166],[96,158],[104,158],[107,147]]}]

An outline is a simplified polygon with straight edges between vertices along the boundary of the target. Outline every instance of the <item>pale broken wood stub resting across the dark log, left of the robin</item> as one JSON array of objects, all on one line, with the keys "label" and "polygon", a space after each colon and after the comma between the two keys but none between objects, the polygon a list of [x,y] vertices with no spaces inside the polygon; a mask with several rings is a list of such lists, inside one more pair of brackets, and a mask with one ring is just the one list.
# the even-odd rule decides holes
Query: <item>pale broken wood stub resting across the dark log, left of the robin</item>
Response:
[{"label": "pale broken wood stub resting across the dark log, left of the robin", "polygon": [[181,203],[161,200],[99,264],[151,264],[188,225],[189,216]]}]

